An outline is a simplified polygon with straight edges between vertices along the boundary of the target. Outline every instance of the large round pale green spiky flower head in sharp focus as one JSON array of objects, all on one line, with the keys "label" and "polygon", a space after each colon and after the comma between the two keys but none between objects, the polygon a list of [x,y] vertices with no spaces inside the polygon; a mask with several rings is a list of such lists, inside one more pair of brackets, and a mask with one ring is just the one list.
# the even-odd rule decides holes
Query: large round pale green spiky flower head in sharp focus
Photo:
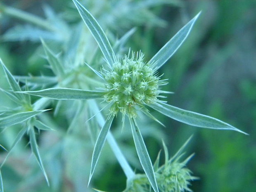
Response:
[{"label": "large round pale green spiky flower head in sharp focus", "polygon": [[133,52],[131,58],[128,54],[116,61],[110,71],[105,70],[103,77],[107,83],[104,97],[111,102],[111,114],[121,111],[123,115],[136,117],[136,109],[155,102],[159,97],[159,85],[165,82],[159,80],[156,70],[143,59],[141,52],[137,52],[136,57]]}]

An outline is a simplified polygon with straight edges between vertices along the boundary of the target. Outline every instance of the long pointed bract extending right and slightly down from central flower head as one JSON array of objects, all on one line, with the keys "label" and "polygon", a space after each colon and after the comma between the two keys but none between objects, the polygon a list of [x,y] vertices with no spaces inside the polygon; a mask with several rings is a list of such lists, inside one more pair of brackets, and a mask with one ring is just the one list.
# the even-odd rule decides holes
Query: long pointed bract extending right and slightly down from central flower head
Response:
[{"label": "long pointed bract extending right and slightly down from central flower head", "polygon": [[[228,123],[225,123],[213,117],[202,115],[192,111],[187,111],[184,109],[180,109],[178,107],[173,107],[163,102],[161,102],[161,104],[160,103],[149,104],[148,106],[152,107],[156,111],[159,111],[161,114],[164,114],[168,117],[171,117],[172,119],[186,123],[191,126],[211,128],[211,129],[236,130],[238,132],[244,133],[243,131],[229,125]],[[244,133],[244,134],[248,135],[247,133]]]}]

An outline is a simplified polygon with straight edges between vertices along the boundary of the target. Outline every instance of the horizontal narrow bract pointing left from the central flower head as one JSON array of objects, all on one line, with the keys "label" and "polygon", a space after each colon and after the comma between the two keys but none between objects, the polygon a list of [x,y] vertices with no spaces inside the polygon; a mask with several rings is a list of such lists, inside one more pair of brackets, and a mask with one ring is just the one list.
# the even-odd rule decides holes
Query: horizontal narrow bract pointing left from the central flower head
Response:
[{"label": "horizontal narrow bract pointing left from the central flower head", "polygon": [[102,97],[105,94],[105,92],[101,91],[71,88],[49,88],[39,91],[23,91],[23,93],[55,100],[89,100]]}]

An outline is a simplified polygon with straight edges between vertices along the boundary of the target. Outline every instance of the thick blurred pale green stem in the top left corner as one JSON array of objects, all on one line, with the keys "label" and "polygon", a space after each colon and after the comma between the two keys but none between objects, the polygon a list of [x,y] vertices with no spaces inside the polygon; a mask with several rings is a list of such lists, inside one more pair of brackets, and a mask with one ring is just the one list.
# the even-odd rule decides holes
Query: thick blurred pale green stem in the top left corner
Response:
[{"label": "thick blurred pale green stem in the top left corner", "polygon": [[56,31],[57,28],[52,26],[49,22],[47,22],[45,19],[42,19],[36,15],[24,12],[20,9],[16,9],[13,7],[5,6],[0,3],[0,12],[7,14],[9,16],[15,17],[17,19],[21,19],[27,22],[30,22],[32,24],[35,24],[37,26],[40,26],[42,28],[45,28],[50,31]]}]

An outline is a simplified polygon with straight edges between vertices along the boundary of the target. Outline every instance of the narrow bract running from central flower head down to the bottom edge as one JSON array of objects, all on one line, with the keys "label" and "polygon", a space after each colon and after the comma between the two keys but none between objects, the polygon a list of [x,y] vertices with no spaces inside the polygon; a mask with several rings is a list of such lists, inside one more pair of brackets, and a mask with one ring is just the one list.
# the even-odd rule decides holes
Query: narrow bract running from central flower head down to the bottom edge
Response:
[{"label": "narrow bract running from central flower head down to the bottom edge", "polygon": [[132,128],[133,140],[135,143],[136,151],[139,156],[142,168],[145,171],[147,178],[149,180],[149,183],[151,184],[153,190],[155,192],[158,192],[158,187],[156,184],[156,177],[154,174],[154,168],[152,166],[152,163],[151,163],[149,154],[147,152],[146,145],[145,145],[142,135],[140,133],[140,130],[133,118],[129,118],[129,120],[130,120],[130,126]]}]

